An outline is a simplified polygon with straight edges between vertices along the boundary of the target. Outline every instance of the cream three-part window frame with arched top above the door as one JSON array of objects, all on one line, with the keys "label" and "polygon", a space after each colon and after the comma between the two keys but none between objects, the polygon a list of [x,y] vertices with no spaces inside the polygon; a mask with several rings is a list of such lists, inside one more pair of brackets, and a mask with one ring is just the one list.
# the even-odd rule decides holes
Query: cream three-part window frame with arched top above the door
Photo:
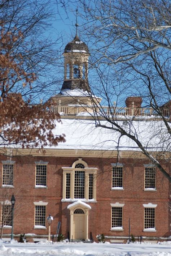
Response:
[{"label": "cream three-part window frame with arched top above the door", "polygon": [[[84,168],[75,168],[76,164],[82,163]],[[73,201],[86,201],[86,202],[96,202],[96,174],[97,168],[89,168],[87,163],[78,158],[72,165],[72,167],[62,167],[63,169],[63,198],[62,202],[73,202]],[[74,183],[75,183],[75,171],[84,171],[85,172],[85,181],[84,181],[84,198],[74,198]],[[66,174],[70,174],[70,198],[66,199]],[[89,174],[93,174],[93,199],[89,199]]]}]

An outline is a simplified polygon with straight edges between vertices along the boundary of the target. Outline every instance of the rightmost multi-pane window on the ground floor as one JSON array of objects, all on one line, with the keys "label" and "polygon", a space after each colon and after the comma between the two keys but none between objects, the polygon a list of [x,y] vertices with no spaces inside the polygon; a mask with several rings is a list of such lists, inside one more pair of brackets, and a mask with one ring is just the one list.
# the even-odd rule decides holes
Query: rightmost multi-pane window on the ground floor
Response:
[{"label": "rightmost multi-pane window on the ground floor", "polygon": [[144,208],[144,229],[155,228],[155,208]]}]

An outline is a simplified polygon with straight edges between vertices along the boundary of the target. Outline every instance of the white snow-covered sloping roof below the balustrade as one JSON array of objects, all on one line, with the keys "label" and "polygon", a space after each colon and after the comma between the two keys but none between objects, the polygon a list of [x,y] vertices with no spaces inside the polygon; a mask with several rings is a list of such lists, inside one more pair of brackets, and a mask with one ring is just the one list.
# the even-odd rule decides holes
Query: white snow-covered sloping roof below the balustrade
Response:
[{"label": "white snow-covered sloping roof below the balustrade", "polygon": [[[106,121],[101,121],[101,124],[109,126]],[[167,131],[162,121],[132,121],[131,125],[126,121],[118,121],[118,124],[126,130],[131,129],[131,133],[135,134],[148,150],[158,151],[166,146],[163,141]],[[127,136],[120,137],[117,131],[96,127],[93,120],[62,119],[61,123],[57,123],[54,133],[66,135],[65,143],[51,147],[56,149],[140,150]]]}]

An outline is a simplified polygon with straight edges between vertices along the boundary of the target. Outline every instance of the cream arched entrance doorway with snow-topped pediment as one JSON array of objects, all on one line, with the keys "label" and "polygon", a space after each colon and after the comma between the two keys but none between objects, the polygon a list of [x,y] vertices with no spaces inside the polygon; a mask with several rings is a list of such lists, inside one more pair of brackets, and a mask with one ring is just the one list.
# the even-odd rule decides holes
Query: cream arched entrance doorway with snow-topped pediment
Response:
[{"label": "cream arched entrance doorway with snow-topped pediment", "polygon": [[76,201],[67,206],[70,210],[70,239],[88,240],[88,211],[91,206]]}]

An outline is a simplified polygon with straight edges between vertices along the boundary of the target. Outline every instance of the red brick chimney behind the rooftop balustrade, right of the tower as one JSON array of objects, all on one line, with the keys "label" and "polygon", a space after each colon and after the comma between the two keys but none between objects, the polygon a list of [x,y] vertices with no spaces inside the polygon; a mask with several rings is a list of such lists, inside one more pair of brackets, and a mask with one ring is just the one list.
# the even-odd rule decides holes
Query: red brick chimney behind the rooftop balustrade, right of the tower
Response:
[{"label": "red brick chimney behind the rooftop balustrade, right of the tower", "polygon": [[[142,98],[141,97],[127,97],[126,98],[126,107],[128,107],[127,115],[140,115],[141,103]],[[138,109],[138,110],[135,110]],[[136,111],[136,112],[135,112]]]}]

